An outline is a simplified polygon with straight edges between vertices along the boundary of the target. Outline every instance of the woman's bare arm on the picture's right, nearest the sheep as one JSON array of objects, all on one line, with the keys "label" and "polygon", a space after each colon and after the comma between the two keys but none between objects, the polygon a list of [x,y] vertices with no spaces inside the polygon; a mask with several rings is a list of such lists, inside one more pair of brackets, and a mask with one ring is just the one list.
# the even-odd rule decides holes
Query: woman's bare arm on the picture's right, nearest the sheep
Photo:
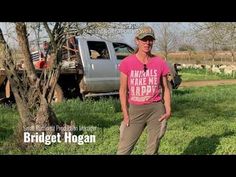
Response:
[{"label": "woman's bare arm on the picture's right, nearest the sheep", "polygon": [[163,76],[161,80],[162,80],[163,99],[166,112],[164,115],[162,115],[159,121],[162,121],[164,119],[169,119],[171,116],[171,94],[170,94],[170,88],[168,86],[167,76]]}]

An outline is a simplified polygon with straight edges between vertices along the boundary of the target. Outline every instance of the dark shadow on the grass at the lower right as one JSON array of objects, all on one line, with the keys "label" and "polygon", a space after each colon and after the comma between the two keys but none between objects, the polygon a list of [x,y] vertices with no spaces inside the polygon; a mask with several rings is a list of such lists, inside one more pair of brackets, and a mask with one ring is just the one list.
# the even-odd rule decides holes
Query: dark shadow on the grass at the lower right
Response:
[{"label": "dark shadow on the grass at the lower right", "polygon": [[184,150],[182,155],[211,155],[216,151],[220,144],[220,138],[234,135],[233,131],[228,131],[220,135],[212,135],[210,137],[196,137]]}]

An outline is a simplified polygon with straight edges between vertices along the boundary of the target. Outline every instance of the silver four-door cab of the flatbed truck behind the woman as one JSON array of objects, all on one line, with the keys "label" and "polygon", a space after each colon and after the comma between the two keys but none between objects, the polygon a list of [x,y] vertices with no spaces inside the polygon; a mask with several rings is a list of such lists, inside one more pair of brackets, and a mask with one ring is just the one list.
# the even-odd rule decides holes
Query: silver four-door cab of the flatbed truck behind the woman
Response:
[{"label": "silver four-door cab of the flatbed truck behind the woman", "polygon": [[83,63],[82,93],[117,93],[118,65],[133,49],[125,44],[105,40],[77,38]]}]

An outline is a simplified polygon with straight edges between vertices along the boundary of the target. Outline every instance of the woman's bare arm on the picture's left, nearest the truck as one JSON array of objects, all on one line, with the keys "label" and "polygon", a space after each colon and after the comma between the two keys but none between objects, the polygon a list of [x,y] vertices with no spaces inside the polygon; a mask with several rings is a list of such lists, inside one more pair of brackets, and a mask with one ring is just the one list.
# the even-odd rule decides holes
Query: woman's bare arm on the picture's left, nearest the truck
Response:
[{"label": "woman's bare arm on the picture's left, nearest the truck", "polygon": [[128,90],[128,78],[124,73],[120,73],[120,103],[121,103],[121,109],[123,112],[123,118],[125,121],[125,124],[129,126],[129,114],[128,114],[128,96],[127,96],[127,90]]}]

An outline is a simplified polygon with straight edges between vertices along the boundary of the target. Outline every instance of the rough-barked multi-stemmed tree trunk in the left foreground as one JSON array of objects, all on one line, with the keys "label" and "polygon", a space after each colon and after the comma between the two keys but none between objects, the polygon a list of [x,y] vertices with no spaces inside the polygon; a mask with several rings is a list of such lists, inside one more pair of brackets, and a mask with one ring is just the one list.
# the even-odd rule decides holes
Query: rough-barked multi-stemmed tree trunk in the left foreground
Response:
[{"label": "rough-barked multi-stemmed tree trunk in the left foreground", "polygon": [[18,43],[24,56],[25,70],[22,72],[16,70],[12,51],[0,29],[1,62],[10,81],[20,115],[17,131],[21,148],[26,148],[22,138],[25,128],[30,128],[35,132],[40,130],[53,134],[55,131],[48,131],[47,127],[59,123],[50,103],[60,75],[61,48],[65,34],[62,23],[56,23],[53,30],[50,30],[47,23],[44,23],[44,27],[52,44],[52,65],[50,68],[44,69],[40,77],[38,77],[31,60],[26,24],[15,24]]}]

